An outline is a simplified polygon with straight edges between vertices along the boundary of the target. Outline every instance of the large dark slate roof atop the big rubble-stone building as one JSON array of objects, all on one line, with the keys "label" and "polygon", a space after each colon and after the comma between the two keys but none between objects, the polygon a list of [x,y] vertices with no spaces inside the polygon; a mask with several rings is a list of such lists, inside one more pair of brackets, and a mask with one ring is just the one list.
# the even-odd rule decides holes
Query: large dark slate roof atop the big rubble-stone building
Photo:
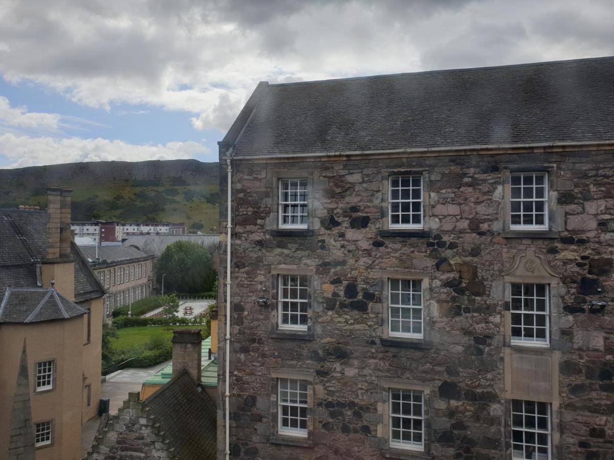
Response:
[{"label": "large dark slate roof atop the big rubble-stone building", "polygon": [[260,83],[235,156],[614,140],[614,57]]}]

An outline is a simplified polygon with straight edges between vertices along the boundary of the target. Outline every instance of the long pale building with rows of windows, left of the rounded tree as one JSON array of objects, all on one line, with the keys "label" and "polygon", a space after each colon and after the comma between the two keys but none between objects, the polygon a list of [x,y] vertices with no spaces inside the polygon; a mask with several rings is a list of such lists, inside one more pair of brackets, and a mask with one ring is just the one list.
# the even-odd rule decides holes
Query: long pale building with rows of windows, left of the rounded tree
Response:
[{"label": "long pale building with rows of windows, left of the rounded tree", "polygon": [[90,267],[107,294],[104,317],[152,294],[153,256],[123,246],[82,247]]}]

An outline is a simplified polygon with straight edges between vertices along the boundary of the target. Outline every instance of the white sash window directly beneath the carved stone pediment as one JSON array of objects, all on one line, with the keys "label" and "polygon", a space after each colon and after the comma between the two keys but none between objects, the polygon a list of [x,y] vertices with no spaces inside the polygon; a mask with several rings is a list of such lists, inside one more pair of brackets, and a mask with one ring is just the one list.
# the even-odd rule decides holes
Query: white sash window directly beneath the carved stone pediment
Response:
[{"label": "white sash window directly beneath the carved stone pediment", "polygon": [[548,345],[548,285],[511,283],[511,341]]}]

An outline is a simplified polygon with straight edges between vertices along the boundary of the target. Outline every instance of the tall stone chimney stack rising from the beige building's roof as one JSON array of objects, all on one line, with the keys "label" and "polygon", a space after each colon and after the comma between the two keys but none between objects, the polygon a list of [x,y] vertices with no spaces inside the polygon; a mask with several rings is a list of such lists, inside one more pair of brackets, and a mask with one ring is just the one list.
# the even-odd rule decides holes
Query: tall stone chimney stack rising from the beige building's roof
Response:
[{"label": "tall stone chimney stack rising from the beige building's roof", "polygon": [[71,254],[71,188],[47,187],[47,259],[68,259]]}]

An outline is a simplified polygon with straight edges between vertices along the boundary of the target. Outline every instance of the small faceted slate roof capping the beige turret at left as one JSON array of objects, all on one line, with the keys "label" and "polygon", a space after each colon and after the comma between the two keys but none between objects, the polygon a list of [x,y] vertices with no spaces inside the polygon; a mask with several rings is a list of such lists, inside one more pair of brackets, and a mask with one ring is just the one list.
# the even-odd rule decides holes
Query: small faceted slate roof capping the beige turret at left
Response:
[{"label": "small faceted slate roof capping the beige turret at left", "polygon": [[54,288],[7,288],[0,303],[0,323],[67,320],[85,313]]}]

